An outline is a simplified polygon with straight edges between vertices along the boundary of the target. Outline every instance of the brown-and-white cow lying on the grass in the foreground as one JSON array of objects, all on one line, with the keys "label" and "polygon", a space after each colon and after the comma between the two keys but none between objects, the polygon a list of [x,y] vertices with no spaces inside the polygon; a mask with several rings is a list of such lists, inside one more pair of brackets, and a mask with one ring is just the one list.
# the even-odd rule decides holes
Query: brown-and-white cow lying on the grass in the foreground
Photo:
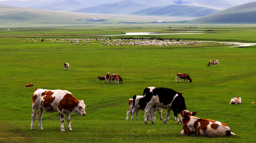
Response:
[{"label": "brown-and-white cow lying on the grass in the foreground", "polygon": [[180,122],[182,122],[183,130],[181,135],[197,135],[206,137],[224,137],[236,135],[231,132],[229,126],[224,123],[209,119],[201,119],[195,117],[197,112],[184,110],[180,112]]}]

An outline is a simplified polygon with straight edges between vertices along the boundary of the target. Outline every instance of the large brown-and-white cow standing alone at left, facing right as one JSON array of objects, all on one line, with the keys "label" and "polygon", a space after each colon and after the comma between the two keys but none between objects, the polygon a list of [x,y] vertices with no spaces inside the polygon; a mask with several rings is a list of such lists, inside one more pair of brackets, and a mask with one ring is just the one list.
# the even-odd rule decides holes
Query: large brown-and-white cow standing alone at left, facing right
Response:
[{"label": "large brown-and-white cow standing alone at left, facing right", "polygon": [[[61,118],[61,131],[64,130],[64,114],[66,114],[66,120],[68,122],[68,130],[72,130],[70,126],[70,114],[75,112],[82,116],[86,115],[84,111],[85,104],[84,100],[77,100],[73,97],[72,93],[65,90],[47,90],[47,89],[35,89],[32,98],[32,121],[31,130],[34,129],[34,120],[37,114],[39,129],[42,128],[42,115],[43,111],[47,112],[59,112]],[[37,113],[37,109],[39,111]]]}]

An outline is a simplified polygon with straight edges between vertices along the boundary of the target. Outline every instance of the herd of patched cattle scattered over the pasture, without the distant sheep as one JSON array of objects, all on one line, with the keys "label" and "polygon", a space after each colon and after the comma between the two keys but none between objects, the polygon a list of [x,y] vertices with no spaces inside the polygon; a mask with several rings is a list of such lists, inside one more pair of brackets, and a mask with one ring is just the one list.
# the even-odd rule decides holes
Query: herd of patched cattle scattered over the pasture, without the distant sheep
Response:
[{"label": "herd of patched cattle scattered over the pasture, without the distant sheep", "polygon": [[[219,66],[219,60],[212,60],[207,64],[207,67],[217,64]],[[69,64],[64,63],[64,70],[69,70]],[[112,82],[112,84],[123,83],[123,79],[119,74],[109,74],[106,76],[98,76],[97,83],[106,79],[106,82]],[[176,81],[178,77],[178,82],[180,78],[192,82],[190,76],[186,73],[177,73]],[[32,87],[33,84],[27,84],[25,87]],[[66,120],[68,123],[68,130],[72,130],[70,126],[70,114],[75,112],[82,116],[86,115],[85,104],[83,100],[77,100],[72,93],[65,90],[47,90],[47,89],[37,89],[32,96],[32,117],[31,117],[31,130],[34,129],[34,120],[37,114],[39,129],[42,128],[42,115],[43,112],[59,112],[61,120],[61,131],[64,131],[64,114],[66,114]],[[231,99],[229,104],[240,104],[241,97],[236,96],[236,98]],[[166,117],[163,120],[166,124],[169,120],[169,115],[172,110],[174,113],[174,120],[178,124],[184,124],[181,135],[196,135],[196,136],[207,136],[207,137],[218,137],[218,136],[231,136],[236,135],[231,132],[229,126],[224,123],[213,121],[209,119],[201,119],[195,117],[197,112],[190,112],[186,108],[185,99],[182,96],[182,92],[177,92],[172,89],[164,87],[147,87],[143,91],[143,95],[134,95],[132,99],[128,100],[129,110],[127,110],[126,120],[128,120],[129,114],[131,114],[131,120],[133,120],[133,115],[136,112],[136,119],[138,118],[139,110],[145,111],[144,113],[144,123],[147,124],[147,120],[151,120],[152,124],[156,120],[155,114],[158,110],[160,120],[162,118],[162,110],[166,109]],[[39,109],[38,113],[37,110]],[[180,118],[178,118],[180,114]]]}]

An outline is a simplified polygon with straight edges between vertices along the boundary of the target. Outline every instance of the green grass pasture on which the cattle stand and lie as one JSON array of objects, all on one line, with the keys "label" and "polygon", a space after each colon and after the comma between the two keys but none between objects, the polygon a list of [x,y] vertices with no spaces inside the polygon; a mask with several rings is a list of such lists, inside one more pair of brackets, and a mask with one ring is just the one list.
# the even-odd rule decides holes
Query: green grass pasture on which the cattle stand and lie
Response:
[{"label": "green grass pasture on which the cattle stand and lie", "polygon": [[[255,43],[255,29],[214,30],[200,35],[161,37]],[[0,31],[0,36],[7,36],[0,37],[0,143],[256,142],[256,106],[251,103],[255,102],[256,91],[256,46],[100,46],[101,42],[87,45],[51,44],[49,41],[23,42],[23,38],[81,38],[77,35],[141,31],[166,32],[168,28],[82,28],[68,32],[66,29],[17,29],[8,31],[8,34],[4,30]],[[209,60],[219,60],[220,67],[213,65],[207,68]],[[70,64],[69,70],[63,70],[65,62]],[[106,80],[104,84],[97,83],[97,77],[105,76],[107,72],[119,73],[124,79],[123,84],[113,85],[106,83]],[[177,73],[188,73],[192,83],[175,82]],[[33,83],[34,87],[25,87],[29,83]],[[229,125],[236,136],[181,136],[182,125],[173,121],[172,113],[166,124],[156,115],[155,125],[145,125],[142,111],[139,112],[139,121],[131,121],[130,116],[129,121],[126,121],[128,99],[133,95],[142,95],[143,90],[150,86],[184,92],[188,110],[196,111],[199,118],[217,120]],[[71,114],[73,131],[68,131],[65,121],[66,132],[63,133],[59,114],[44,112],[43,131],[38,129],[37,117],[35,130],[31,131],[31,98],[35,88],[70,91],[76,99],[84,100],[86,116]],[[241,97],[242,104],[229,105],[230,99],[236,95]],[[166,110],[163,111],[163,117],[165,112]]]}]

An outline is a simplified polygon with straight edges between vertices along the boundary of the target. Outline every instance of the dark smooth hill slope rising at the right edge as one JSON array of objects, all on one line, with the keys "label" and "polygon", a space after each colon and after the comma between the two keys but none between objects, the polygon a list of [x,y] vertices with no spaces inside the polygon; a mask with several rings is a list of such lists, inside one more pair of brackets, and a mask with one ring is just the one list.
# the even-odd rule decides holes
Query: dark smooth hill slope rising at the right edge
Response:
[{"label": "dark smooth hill slope rising at the right edge", "polygon": [[256,23],[256,2],[242,4],[211,15],[187,21],[188,23]]}]

